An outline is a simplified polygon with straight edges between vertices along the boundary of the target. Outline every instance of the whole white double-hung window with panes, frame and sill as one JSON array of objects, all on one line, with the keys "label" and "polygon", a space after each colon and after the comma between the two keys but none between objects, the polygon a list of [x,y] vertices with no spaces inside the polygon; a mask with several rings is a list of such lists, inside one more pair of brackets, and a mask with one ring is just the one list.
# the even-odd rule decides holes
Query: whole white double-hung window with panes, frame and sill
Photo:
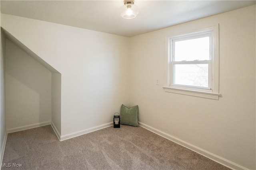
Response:
[{"label": "whole white double-hung window with panes, frame and sill", "polygon": [[218,25],[168,37],[166,92],[218,100]]}]

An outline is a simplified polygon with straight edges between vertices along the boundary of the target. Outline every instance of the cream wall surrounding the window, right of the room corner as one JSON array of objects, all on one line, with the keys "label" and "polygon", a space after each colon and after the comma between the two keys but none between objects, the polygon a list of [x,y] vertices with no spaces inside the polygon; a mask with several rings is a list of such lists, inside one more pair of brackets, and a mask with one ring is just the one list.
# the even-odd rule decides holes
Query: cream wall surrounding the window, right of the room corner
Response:
[{"label": "cream wall surrounding the window, right of the room corner", "polygon": [[[131,105],[139,121],[256,169],[255,6],[131,38]],[[220,93],[210,100],[164,92],[167,36],[220,24]],[[160,85],[156,84],[156,79]]]}]

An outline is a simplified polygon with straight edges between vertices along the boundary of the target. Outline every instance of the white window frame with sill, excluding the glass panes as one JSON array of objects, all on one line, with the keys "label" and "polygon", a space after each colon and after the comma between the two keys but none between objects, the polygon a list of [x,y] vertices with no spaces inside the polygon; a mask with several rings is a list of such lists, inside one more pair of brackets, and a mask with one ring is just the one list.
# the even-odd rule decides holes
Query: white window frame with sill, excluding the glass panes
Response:
[{"label": "white window frame with sill, excluding the glass panes", "polygon": [[[205,61],[173,61],[174,43],[176,41],[210,37],[210,59]],[[167,37],[168,86],[165,92],[185,94],[218,100],[219,94],[219,25],[213,25],[189,33]],[[174,84],[174,64],[208,64],[208,88]]]}]

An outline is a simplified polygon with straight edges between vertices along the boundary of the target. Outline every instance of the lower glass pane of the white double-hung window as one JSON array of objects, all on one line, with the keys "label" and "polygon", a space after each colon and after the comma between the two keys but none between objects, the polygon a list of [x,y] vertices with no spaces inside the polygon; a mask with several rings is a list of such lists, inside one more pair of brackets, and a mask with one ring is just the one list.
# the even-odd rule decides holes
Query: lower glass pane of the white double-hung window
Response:
[{"label": "lower glass pane of the white double-hung window", "polygon": [[174,64],[174,84],[208,87],[208,64]]}]

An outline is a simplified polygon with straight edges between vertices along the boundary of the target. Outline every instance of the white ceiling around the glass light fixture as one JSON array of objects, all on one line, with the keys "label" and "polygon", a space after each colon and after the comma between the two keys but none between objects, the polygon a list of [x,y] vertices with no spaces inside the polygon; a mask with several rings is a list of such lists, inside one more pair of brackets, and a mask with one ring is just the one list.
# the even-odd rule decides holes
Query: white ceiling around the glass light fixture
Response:
[{"label": "white ceiling around the glass light fixture", "polygon": [[255,0],[135,0],[139,15],[119,15],[123,0],[1,0],[1,13],[132,37],[256,4]]}]

